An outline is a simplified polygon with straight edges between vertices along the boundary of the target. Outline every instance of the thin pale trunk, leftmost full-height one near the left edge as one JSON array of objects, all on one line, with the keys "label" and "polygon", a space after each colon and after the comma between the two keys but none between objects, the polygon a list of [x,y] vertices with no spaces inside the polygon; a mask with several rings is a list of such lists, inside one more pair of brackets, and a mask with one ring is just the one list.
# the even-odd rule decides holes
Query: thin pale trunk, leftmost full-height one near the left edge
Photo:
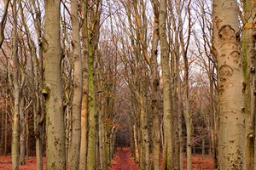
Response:
[{"label": "thin pale trunk, leftmost full-height one near the left edge", "polygon": [[13,113],[12,133],[12,168],[19,167],[19,131],[20,131],[20,86],[19,86],[19,60],[18,60],[18,39],[17,39],[17,1],[13,3],[13,30],[12,30],[12,58],[13,58],[13,84],[15,107]]}]

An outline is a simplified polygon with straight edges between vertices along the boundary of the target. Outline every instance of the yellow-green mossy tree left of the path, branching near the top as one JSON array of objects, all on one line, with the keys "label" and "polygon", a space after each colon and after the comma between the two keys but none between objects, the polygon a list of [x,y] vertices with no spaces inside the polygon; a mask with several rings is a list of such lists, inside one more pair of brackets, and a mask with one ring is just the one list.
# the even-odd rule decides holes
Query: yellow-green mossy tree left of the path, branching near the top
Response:
[{"label": "yellow-green mossy tree left of the path, branching near the top", "polygon": [[[96,4],[93,1],[88,1],[90,11],[88,11],[88,153],[87,153],[87,169],[96,169],[96,84],[95,84],[95,60],[96,49],[100,37],[100,19],[102,13],[102,2]],[[86,23],[86,22],[85,22]]]}]

